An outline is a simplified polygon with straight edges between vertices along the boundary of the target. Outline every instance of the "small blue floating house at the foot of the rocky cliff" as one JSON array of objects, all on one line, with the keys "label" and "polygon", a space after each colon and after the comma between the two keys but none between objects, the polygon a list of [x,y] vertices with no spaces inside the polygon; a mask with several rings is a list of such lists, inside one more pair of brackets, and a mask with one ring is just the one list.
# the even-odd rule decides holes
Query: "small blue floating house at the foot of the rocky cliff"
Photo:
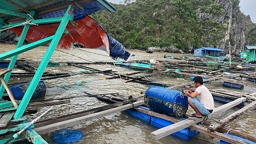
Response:
[{"label": "small blue floating house at the foot of the rocky cliff", "polygon": [[194,56],[196,56],[196,57],[205,57],[205,56],[219,57],[220,52],[224,52],[224,50],[219,49],[219,48],[200,47],[200,48],[194,49]]}]

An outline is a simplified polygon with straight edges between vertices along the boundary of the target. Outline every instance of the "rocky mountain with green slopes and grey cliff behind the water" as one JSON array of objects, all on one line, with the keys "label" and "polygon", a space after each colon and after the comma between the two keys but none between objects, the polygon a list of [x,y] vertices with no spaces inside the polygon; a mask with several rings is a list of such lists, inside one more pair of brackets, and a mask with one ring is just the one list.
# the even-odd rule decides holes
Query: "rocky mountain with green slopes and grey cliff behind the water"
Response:
[{"label": "rocky mountain with green slopes and grey cliff behind the water", "polygon": [[[240,0],[125,0],[117,11],[92,14],[126,48],[222,48],[239,54],[256,44],[256,27],[239,8]],[[0,43],[13,42],[2,32]],[[8,39],[10,34],[10,40]],[[6,39],[7,38],[7,39]]]}]

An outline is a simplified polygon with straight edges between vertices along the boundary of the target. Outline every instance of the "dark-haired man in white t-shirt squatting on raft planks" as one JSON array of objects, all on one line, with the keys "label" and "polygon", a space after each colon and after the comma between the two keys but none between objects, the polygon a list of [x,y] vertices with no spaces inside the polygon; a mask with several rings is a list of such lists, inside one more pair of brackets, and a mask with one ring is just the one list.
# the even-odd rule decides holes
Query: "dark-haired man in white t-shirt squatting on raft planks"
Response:
[{"label": "dark-haired man in white t-shirt squatting on raft planks", "polygon": [[[196,112],[190,115],[190,117],[202,118],[203,115],[206,116],[213,112],[213,96],[208,88],[203,85],[203,78],[201,76],[194,77],[193,81],[196,90],[194,92],[184,90],[184,94],[187,95],[188,104]],[[195,97],[197,97],[197,99],[195,99]]]}]

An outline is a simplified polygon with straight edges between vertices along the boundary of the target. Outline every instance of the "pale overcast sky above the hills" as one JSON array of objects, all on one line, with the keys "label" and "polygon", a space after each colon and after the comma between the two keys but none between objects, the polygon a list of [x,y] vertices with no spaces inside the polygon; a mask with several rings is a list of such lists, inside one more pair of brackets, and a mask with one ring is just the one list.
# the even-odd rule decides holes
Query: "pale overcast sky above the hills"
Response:
[{"label": "pale overcast sky above the hills", "polygon": [[[124,0],[108,0],[109,2],[120,4]],[[240,0],[240,10],[247,16],[250,15],[251,21],[256,23],[256,0]]]}]

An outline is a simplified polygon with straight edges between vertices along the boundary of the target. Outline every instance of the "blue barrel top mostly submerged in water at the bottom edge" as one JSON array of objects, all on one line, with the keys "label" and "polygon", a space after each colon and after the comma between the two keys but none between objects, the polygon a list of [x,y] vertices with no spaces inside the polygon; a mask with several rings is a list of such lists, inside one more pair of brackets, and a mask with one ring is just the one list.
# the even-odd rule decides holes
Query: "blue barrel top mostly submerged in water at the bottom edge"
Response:
[{"label": "blue barrel top mostly submerged in water at the bottom edge", "polygon": [[79,141],[83,133],[77,129],[62,129],[52,135],[52,139],[57,144],[71,144]]}]

